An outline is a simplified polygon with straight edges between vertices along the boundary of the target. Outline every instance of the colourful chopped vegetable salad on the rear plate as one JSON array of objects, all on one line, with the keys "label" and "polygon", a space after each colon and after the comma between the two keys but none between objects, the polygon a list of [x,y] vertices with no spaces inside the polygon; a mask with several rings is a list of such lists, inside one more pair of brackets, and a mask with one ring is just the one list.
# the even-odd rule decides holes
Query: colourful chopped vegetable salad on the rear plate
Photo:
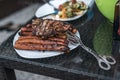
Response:
[{"label": "colourful chopped vegetable salad on the rear plate", "polygon": [[81,15],[85,10],[87,10],[87,5],[83,1],[70,0],[59,5],[59,12],[56,17],[71,18]]}]

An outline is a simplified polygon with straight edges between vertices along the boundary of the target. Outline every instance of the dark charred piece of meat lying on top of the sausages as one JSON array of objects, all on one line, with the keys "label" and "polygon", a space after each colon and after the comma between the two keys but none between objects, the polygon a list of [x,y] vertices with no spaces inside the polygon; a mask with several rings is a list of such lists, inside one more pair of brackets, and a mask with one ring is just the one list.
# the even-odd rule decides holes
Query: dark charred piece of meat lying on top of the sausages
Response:
[{"label": "dark charred piece of meat lying on top of the sausages", "polygon": [[51,19],[41,20],[39,25],[37,24],[34,26],[35,27],[33,27],[33,34],[42,38],[48,38],[57,34],[63,34],[67,30],[75,32],[75,29],[73,29],[72,25]]}]

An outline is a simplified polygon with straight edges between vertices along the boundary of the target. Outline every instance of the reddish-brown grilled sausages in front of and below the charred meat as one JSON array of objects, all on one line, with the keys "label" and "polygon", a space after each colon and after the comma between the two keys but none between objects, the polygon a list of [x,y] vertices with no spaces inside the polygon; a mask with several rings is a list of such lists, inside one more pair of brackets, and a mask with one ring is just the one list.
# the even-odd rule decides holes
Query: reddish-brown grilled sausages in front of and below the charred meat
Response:
[{"label": "reddish-brown grilled sausages in front of and below the charred meat", "polygon": [[22,50],[48,50],[69,52],[66,38],[48,38],[43,40],[37,36],[20,36],[14,47]]}]

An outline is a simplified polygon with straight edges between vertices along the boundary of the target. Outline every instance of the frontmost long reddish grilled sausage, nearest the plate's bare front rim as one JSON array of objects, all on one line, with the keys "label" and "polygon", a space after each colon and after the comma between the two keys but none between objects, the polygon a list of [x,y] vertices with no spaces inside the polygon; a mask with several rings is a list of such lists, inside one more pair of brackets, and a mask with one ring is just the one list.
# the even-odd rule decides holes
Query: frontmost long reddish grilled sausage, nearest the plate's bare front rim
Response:
[{"label": "frontmost long reddish grilled sausage, nearest the plate's bare front rim", "polygon": [[40,51],[60,51],[60,52],[69,52],[69,48],[63,45],[42,45],[42,44],[24,44],[24,43],[16,43],[14,46],[16,49],[22,50],[40,50]]}]

